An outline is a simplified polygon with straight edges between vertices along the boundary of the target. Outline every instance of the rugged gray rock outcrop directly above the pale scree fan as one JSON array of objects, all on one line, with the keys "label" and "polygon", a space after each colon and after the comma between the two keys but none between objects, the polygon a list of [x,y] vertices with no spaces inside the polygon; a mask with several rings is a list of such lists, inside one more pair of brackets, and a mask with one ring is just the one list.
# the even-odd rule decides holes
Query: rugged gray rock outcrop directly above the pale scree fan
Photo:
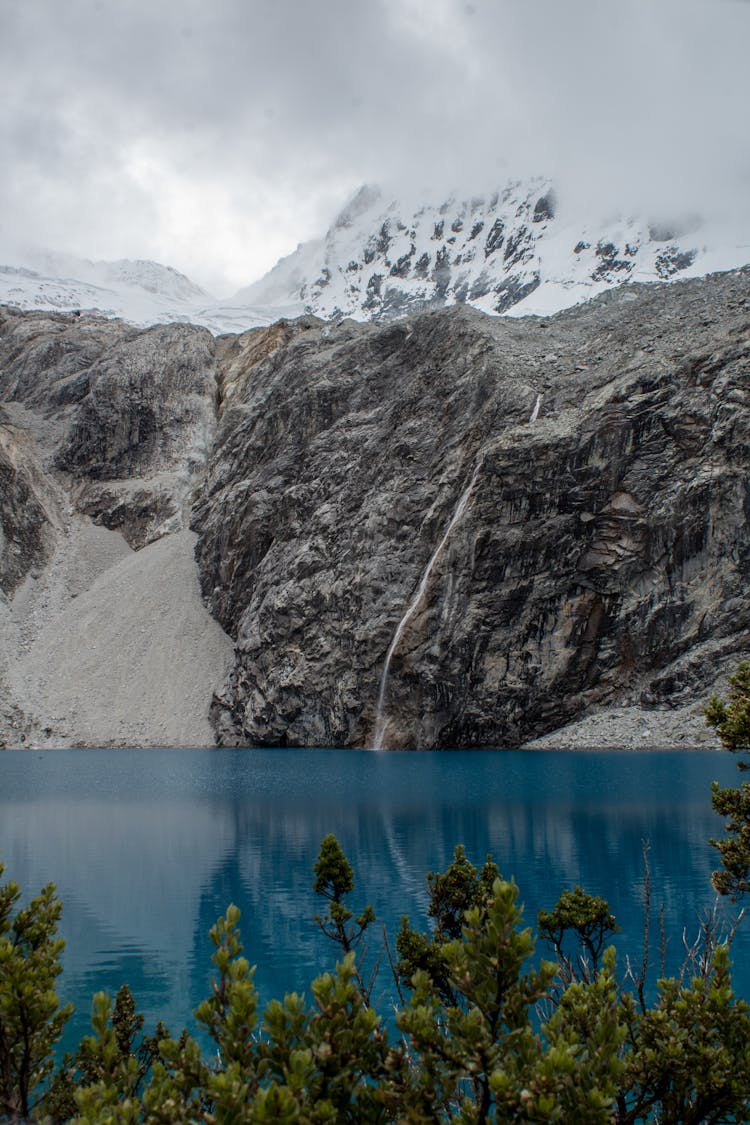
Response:
[{"label": "rugged gray rock outcrop directly above the pale scree fan", "polygon": [[143,547],[187,525],[213,436],[214,352],[192,325],[6,309],[0,399],[48,420],[75,508]]}]

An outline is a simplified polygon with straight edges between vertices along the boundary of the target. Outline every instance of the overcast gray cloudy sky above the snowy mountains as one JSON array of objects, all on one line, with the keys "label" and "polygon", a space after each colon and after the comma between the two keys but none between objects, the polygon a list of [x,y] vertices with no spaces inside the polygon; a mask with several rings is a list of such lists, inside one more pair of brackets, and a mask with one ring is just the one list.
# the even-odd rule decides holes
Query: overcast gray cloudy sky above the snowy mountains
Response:
[{"label": "overcast gray cloudy sky above the snowy mountains", "polygon": [[0,254],[219,295],[364,181],[749,209],[749,0],[0,0]]}]

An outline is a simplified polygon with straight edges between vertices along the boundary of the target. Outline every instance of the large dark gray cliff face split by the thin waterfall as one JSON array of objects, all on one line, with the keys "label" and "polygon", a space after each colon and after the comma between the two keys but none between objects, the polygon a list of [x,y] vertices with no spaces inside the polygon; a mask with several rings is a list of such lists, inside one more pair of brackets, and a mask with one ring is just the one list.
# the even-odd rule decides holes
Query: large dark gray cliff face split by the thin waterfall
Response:
[{"label": "large dark gray cliff face split by the thin waterfall", "polygon": [[392,654],[386,746],[683,704],[747,648],[747,271],[548,321],[272,331],[233,344],[195,512],[236,639],[222,741],[372,745],[386,652],[478,466]]}]

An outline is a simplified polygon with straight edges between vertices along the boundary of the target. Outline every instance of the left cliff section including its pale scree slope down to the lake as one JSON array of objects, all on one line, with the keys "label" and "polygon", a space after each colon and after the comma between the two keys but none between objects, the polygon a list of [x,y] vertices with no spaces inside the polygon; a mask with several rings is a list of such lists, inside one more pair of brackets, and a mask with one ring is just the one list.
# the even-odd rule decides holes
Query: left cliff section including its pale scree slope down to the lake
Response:
[{"label": "left cliff section including its pale scree slope down to the lake", "polygon": [[216,350],[195,327],[0,309],[0,747],[214,745],[232,644],[187,516]]}]

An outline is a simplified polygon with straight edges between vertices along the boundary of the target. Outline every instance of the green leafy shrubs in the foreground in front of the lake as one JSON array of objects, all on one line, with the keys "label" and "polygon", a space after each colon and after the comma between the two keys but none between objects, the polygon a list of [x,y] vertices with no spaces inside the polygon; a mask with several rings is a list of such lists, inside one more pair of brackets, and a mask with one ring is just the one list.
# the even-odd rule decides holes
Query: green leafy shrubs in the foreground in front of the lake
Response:
[{"label": "green leafy shrubs in the foreground in front of the lake", "polygon": [[[750,744],[750,664],[710,723],[731,749]],[[750,786],[717,790],[728,817],[715,884],[748,890]],[[70,1006],[60,1005],[61,904],[45,888],[19,907],[0,886],[0,1119],[136,1123],[659,1122],[750,1118],[750,1008],[731,986],[730,938],[707,919],[683,973],[647,1000],[648,957],[618,981],[604,899],[566,891],[537,919],[553,960],[533,958],[518,891],[488,858],[455,850],[427,876],[431,928],[404,919],[385,953],[401,997],[397,1032],[371,1005],[364,937],[370,907],[349,906],[354,876],[333,836],[315,864],[316,920],[341,950],[333,972],[261,1012],[243,956],[240,911],[210,932],[211,994],[196,1011],[213,1041],[207,1059],[187,1033],[144,1035],[127,986],[93,999],[93,1034],[55,1069]],[[2,867],[0,867],[0,875]],[[647,867],[647,892],[650,891]],[[648,893],[647,893],[648,898]],[[648,922],[648,907],[647,907]],[[731,935],[730,935],[731,937]]]}]

